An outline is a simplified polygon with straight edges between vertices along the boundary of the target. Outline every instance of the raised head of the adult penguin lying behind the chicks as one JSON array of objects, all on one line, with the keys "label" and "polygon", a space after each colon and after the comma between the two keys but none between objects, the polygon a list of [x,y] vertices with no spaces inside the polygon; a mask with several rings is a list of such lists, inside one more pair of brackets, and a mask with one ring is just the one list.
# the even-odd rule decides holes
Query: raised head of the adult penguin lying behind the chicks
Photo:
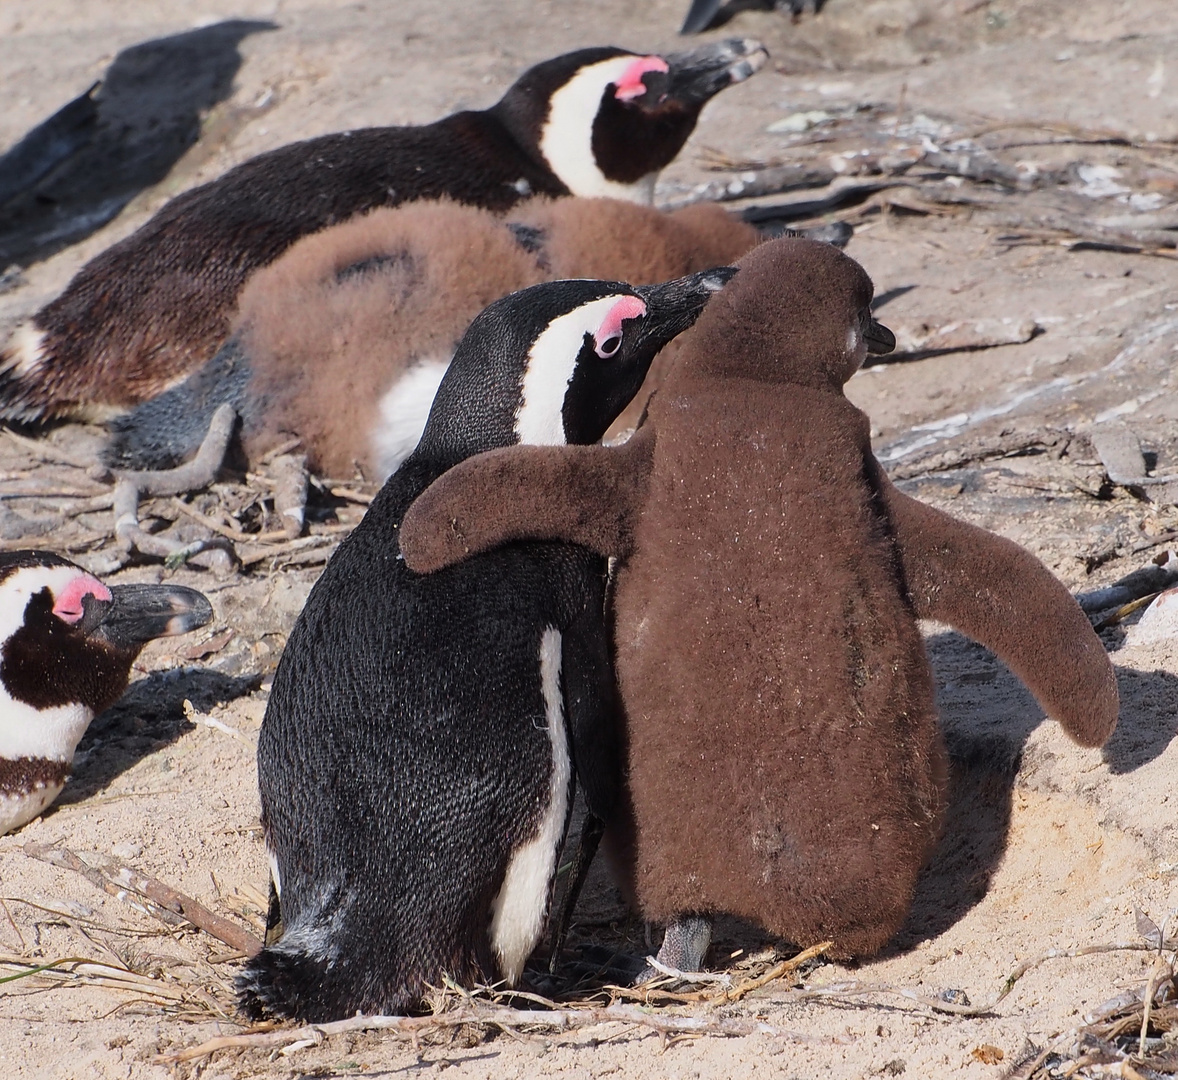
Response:
[{"label": "raised head of the adult penguin lying behind the chicks", "polygon": [[650,204],[708,100],[767,59],[746,39],[667,57],[583,48],[529,68],[492,112],[573,194]]}]

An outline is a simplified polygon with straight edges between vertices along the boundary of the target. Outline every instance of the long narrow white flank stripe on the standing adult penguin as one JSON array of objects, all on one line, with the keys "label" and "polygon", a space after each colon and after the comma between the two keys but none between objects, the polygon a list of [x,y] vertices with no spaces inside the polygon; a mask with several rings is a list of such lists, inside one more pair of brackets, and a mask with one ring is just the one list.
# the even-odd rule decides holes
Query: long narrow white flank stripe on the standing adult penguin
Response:
[{"label": "long narrow white flank stripe on the standing adult penguin", "polygon": [[556,853],[569,811],[569,780],[573,762],[564,730],[564,698],[561,694],[561,634],[549,627],[540,642],[540,680],[544,693],[544,718],[552,747],[552,773],[548,786],[548,809],[535,840],[517,848],[508,863],[491,905],[491,946],[508,986],[519,981],[524,961],[544,928],[548,890],[556,870]]}]

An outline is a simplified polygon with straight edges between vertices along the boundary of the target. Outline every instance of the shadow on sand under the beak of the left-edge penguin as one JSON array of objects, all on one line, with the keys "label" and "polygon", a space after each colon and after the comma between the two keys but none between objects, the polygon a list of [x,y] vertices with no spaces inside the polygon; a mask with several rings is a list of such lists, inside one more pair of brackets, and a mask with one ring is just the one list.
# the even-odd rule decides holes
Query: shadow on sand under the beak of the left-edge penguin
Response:
[{"label": "shadow on sand under the beak of the left-edge penguin", "polygon": [[185,700],[206,713],[216,704],[252,693],[260,683],[260,675],[225,675],[207,668],[154,671],[132,683],[86,730],[78,746],[73,776],[58,804],[91,799],[148,754],[191,731],[192,721],[184,715]]}]

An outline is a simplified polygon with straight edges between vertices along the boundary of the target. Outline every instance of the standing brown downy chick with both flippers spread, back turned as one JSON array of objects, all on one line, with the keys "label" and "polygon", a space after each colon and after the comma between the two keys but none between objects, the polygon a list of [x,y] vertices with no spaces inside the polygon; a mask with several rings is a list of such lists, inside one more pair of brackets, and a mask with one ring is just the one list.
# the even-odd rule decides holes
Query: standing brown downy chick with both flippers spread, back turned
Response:
[{"label": "standing brown downy chick with both flippers spread, back turned", "polygon": [[614,839],[642,914],[687,930],[660,956],[681,968],[709,933],[681,916],[732,913],[840,956],[899,929],[946,801],[918,618],[997,652],[1084,746],[1118,709],[1064,587],[902,495],[872,455],[842,386],[894,340],[862,269],[799,239],[739,266],[628,444],[471,458],[401,531],[422,571],[522,537],[622,557],[633,817]]}]

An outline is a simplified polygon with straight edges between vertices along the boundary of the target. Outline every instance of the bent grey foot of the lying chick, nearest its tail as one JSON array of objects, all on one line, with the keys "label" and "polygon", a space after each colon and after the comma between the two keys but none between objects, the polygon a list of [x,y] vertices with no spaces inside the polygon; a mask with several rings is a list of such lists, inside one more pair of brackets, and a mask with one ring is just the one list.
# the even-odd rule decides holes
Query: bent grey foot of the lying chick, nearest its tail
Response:
[{"label": "bent grey foot of the lying chick, nearest its tail", "polygon": [[207,566],[218,574],[233,569],[232,549],[221,537],[184,544],[145,532],[139,526],[139,499],[145,495],[183,495],[211,484],[225,461],[236,423],[233,406],[219,405],[209,425],[209,433],[191,462],[176,469],[114,473],[114,537],[127,556],[139,551],[170,562]]}]

